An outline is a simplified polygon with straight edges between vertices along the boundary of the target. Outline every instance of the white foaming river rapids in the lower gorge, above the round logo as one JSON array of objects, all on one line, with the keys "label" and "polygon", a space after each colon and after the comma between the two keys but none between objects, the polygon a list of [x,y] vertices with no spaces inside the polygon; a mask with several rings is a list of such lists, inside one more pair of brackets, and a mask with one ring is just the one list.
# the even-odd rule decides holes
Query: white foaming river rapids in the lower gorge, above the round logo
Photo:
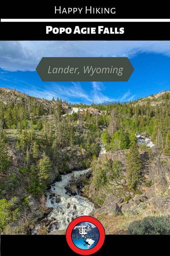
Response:
[{"label": "white foaming river rapids in the lower gorge, above the round logo", "polygon": [[[74,175],[74,179],[76,179],[89,171],[90,168],[62,175],[61,181],[51,185],[51,190],[47,192],[46,202],[47,207],[53,207],[52,212],[47,216],[47,219],[51,220],[51,224],[54,223],[50,231],[66,229],[72,219],[82,215],[89,215],[89,213],[95,209],[94,204],[87,198],[81,197],[78,194],[69,196],[66,194],[66,189],[64,188],[70,182],[72,175]],[[55,195],[51,197],[51,194]],[[60,202],[57,203],[56,198],[58,197],[60,198]]]}]

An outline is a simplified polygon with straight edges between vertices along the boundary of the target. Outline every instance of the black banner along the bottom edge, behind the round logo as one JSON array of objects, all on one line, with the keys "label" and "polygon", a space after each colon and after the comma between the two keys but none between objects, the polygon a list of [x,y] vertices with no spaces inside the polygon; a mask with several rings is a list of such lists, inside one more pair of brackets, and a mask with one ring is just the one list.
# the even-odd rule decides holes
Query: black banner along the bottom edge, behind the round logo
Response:
[{"label": "black banner along the bottom edge, behind the round logo", "polygon": [[[116,253],[138,255],[139,251],[152,253],[161,242],[168,244],[168,235],[106,235],[101,249],[93,255],[114,255]],[[157,246],[155,246],[157,244]],[[135,249],[133,248],[135,246]],[[146,249],[146,248],[147,249]],[[161,253],[167,247],[161,247]],[[65,235],[1,235],[1,256],[77,255],[67,245]]]}]

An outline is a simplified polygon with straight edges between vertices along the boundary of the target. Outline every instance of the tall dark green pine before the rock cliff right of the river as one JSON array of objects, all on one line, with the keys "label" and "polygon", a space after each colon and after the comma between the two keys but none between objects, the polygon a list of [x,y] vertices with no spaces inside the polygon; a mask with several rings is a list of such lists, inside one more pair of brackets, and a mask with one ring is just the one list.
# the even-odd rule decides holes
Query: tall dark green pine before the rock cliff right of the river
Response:
[{"label": "tall dark green pine before the rock cliff right of the river", "polygon": [[136,189],[140,181],[141,159],[136,143],[133,143],[127,156],[127,178],[129,189]]}]

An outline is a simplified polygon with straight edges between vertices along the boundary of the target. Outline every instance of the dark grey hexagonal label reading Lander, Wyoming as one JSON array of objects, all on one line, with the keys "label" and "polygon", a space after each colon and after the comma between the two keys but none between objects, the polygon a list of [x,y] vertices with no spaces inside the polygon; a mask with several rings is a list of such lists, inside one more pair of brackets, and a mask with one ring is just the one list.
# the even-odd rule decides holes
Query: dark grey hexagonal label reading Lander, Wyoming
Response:
[{"label": "dark grey hexagonal label reading Lander, Wyoming", "polygon": [[127,57],[43,57],[36,68],[42,81],[128,81],[134,68]]}]

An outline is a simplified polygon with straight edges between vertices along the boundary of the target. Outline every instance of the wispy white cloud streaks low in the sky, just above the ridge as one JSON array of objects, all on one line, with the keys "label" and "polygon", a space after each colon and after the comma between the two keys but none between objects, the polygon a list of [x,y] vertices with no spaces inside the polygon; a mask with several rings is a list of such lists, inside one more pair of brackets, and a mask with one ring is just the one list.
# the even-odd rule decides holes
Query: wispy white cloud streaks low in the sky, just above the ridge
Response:
[{"label": "wispy white cloud streaks low in the sky, just above the ridge", "polygon": [[[49,85],[44,85],[43,90],[41,87],[35,86],[33,84],[26,83],[22,80],[15,80],[17,83],[19,82],[22,85],[22,92],[28,93],[29,95],[46,98],[47,100],[52,100],[53,97],[62,98],[67,101],[71,101],[72,103],[102,103],[104,101],[107,102],[124,102],[132,100],[135,95],[132,95],[130,90],[121,95],[119,98],[110,98],[107,95],[104,95],[101,91],[104,91],[104,85],[101,82],[92,82],[92,87],[88,91],[85,91],[81,83],[79,82],[70,82],[70,85],[60,85],[53,83],[50,87]],[[9,86],[8,86],[9,87]],[[11,87],[11,89],[14,89]],[[17,89],[17,85],[16,85]],[[77,99],[77,100],[76,100]]]}]

